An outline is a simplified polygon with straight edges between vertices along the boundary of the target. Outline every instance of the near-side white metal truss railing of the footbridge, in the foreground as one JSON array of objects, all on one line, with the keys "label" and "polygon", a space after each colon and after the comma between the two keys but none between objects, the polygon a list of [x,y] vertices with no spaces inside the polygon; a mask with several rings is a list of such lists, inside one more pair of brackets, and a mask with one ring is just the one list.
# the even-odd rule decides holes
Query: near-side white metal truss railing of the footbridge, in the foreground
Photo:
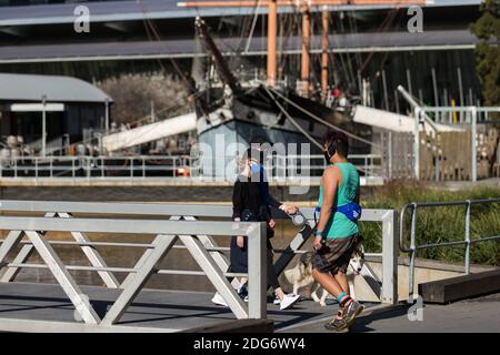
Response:
[{"label": "near-side white metal truss railing of the footbridge, in the foreground", "polygon": [[[9,203],[7,203],[9,204]],[[94,204],[93,204],[94,205]],[[3,201],[1,206],[4,206]],[[20,204],[24,207],[27,204]],[[12,207],[12,206],[11,206]],[[88,206],[90,207],[90,205]],[[61,211],[57,205],[52,204],[50,210]],[[26,268],[49,268],[63,291],[74,304],[77,312],[80,313],[82,320],[87,324],[109,326],[116,324],[126,308],[131,304],[136,295],[146,284],[152,273],[172,274],[177,271],[162,270],[157,271],[156,265],[163,260],[164,255],[172,248],[178,239],[180,239],[190,254],[198,262],[201,272],[182,271],[182,274],[207,275],[214,287],[221,292],[227,300],[228,305],[238,318],[263,318],[267,314],[266,307],[266,242],[264,231],[266,224],[261,222],[211,222],[211,221],[179,221],[180,217],[172,216],[170,221],[159,220],[141,220],[141,219],[110,219],[110,217],[71,217],[68,213],[46,213],[44,217],[26,216],[29,210],[18,210],[24,214],[23,216],[0,216],[0,230],[10,231],[8,236],[0,245],[0,267],[7,267],[7,272],[20,267]],[[58,217],[59,216],[59,217]],[[38,231],[38,232],[37,232]],[[47,239],[47,234],[39,231],[70,232],[79,243],[84,254],[91,262],[91,266],[84,265],[64,265],[52,248],[52,244]],[[100,257],[94,245],[102,242],[92,243],[83,233],[124,233],[124,234],[151,234],[156,235],[153,242],[149,245],[141,243],[140,246],[146,247],[141,260],[133,267],[109,267]],[[206,244],[199,240],[200,235],[208,233],[210,235],[228,236],[232,234],[248,236],[249,257],[256,261],[250,264],[248,271],[249,282],[252,287],[249,290],[249,304],[244,305],[242,300],[236,294],[230,286],[226,276],[240,276],[243,274],[223,273],[217,266],[216,257],[204,247]],[[30,243],[26,243],[20,250],[13,262],[7,263],[6,256],[10,251],[21,243],[24,235],[28,236]],[[198,236],[198,237],[194,237]],[[122,246],[124,243],[108,243]],[[127,243],[131,246],[130,243]],[[89,247],[89,245],[91,245]],[[36,248],[46,264],[27,263],[29,251]],[[68,271],[93,271],[98,272],[103,278],[108,287],[123,288],[118,300],[101,320],[94,312],[92,306],[82,298],[83,293],[68,273]],[[112,275],[112,273],[127,273],[128,276],[122,283]],[[247,275],[247,274],[244,274]],[[2,282],[6,274],[2,276]],[[9,276],[10,277],[10,276]],[[10,280],[7,280],[9,282]]]}]

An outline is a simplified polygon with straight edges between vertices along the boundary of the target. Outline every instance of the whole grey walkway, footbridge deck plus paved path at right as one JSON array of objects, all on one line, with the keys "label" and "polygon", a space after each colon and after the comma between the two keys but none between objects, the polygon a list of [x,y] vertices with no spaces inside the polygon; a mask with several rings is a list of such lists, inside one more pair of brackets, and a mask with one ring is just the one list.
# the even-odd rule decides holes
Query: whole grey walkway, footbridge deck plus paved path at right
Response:
[{"label": "whole grey walkway, footbridge deck plus paved path at right", "polygon": [[[90,295],[100,315],[119,293],[103,287],[82,287],[82,291]],[[180,331],[234,320],[228,308],[213,305],[211,296],[210,293],[144,290],[127,310],[120,325]],[[396,307],[367,304],[351,332],[500,332],[500,293],[450,305],[424,305],[422,321],[410,322],[408,308],[407,304]],[[321,307],[312,301],[302,301],[288,311],[269,304],[268,317],[274,321],[277,332],[330,333],[323,324],[336,311],[334,303]],[[74,307],[59,285],[0,284],[0,327],[7,318],[74,322]]]}]

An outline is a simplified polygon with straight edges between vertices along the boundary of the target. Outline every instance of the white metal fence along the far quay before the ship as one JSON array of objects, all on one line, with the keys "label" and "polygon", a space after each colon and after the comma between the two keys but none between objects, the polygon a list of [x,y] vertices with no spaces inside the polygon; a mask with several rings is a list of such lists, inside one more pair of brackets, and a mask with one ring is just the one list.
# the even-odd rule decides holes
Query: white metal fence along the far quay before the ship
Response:
[{"label": "white metal fence along the far quay before the ship", "polygon": [[[220,160],[229,166],[227,175],[232,181],[238,171],[238,156]],[[349,159],[363,176],[381,176],[381,156],[353,154]],[[150,178],[216,178],[219,159],[189,155],[139,156],[17,156],[0,158],[0,179],[150,179]],[[231,165],[232,164],[232,165]],[[287,178],[321,176],[326,166],[323,155],[273,156],[266,165],[272,180]],[[223,178],[223,176],[222,176]]]}]

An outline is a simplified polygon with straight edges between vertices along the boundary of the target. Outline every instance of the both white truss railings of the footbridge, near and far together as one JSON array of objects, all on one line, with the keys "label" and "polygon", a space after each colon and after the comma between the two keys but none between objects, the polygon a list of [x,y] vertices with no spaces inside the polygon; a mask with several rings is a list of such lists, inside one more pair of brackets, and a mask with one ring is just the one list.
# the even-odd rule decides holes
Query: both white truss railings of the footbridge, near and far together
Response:
[{"label": "both white truss railings of the footbridge, near and far together", "polygon": [[[21,268],[49,268],[57,282],[62,286],[77,311],[87,324],[111,326],[117,323],[127,307],[146,284],[157,274],[182,274],[207,276],[217,291],[224,297],[238,318],[262,318],[267,316],[266,306],[266,241],[264,223],[229,222],[232,213],[228,205],[199,204],[146,204],[146,203],[90,203],[90,202],[37,202],[37,201],[0,201],[0,212],[13,214],[0,216],[0,230],[10,231],[0,246],[0,266],[4,271],[0,282],[13,282]],[[276,219],[289,216],[274,211]],[[313,227],[313,209],[301,212],[309,221],[292,239],[290,244],[276,250],[280,257],[274,263],[281,273],[296,254],[303,253],[301,247],[309,239]],[[34,214],[42,215],[33,216]],[[92,214],[98,217],[80,217],[78,214]],[[112,214],[112,216],[111,216]],[[117,217],[120,215],[120,217]],[[169,217],[164,220],[144,220],[146,216]],[[217,222],[199,221],[199,219],[217,217]],[[228,221],[220,221],[221,217]],[[382,282],[376,290],[382,303],[397,302],[397,214],[392,210],[364,210],[362,221],[382,223]],[[47,231],[68,232],[74,241],[49,240]],[[116,241],[93,242],[86,233],[128,233],[152,234],[152,243],[119,243]],[[217,245],[212,236],[218,235],[249,236],[249,272],[247,274],[226,272],[229,262],[223,252],[228,247]],[[28,240],[23,241],[27,236]],[[176,244],[180,241],[182,244]],[[22,245],[12,262],[6,256],[17,245]],[[91,266],[64,265],[54,252],[54,245],[72,245],[80,247]],[[133,267],[109,267],[97,246],[138,247],[144,253]],[[190,252],[201,271],[157,270],[160,261],[172,250],[184,248]],[[27,263],[30,254],[38,251],[44,264]],[[122,288],[121,295],[113,303],[106,316],[100,320],[89,303],[82,298],[82,292],[68,271],[97,272],[107,287]],[[122,283],[114,274],[126,273]],[[362,274],[371,275],[369,270]],[[236,294],[227,281],[227,276],[248,276],[248,307]],[[372,275],[371,275],[372,276]]]}]

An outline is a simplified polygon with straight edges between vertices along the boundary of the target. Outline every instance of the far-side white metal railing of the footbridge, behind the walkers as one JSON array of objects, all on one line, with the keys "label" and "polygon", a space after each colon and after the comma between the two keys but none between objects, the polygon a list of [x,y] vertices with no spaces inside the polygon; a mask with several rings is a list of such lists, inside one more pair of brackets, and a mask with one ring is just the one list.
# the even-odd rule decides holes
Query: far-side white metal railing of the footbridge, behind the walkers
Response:
[{"label": "far-side white metal railing of the footbridge, behind the walkers", "polygon": [[[63,211],[63,213],[61,213]],[[81,214],[90,214],[90,215],[99,215],[99,220],[106,219],[109,223],[112,221],[121,221],[121,220],[111,220],[116,219],[116,215],[127,215],[127,216],[161,216],[162,219],[168,216],[183,216],[187,221],[197,222],[198,217],[203,219],[212,219],[220,217],[230,219],[232,215],[232,206],[231,205],[207,205],[207,204],[166,204],[166,203],[106,203],[106,202],[60,202],[60,201],[9,201],[3,200],[0,201],[0,212],[8,212],[9,215],[16,214],[19,212],[24,213],[29,212],[31,215],[33,213],[44,214],[47,216],[66,216],[70,217],[74,213]],[[18,213],[16,213],[18,212]],[[306,251],[301,250],[302,245],[309,239],[312,232],[312,227],[314,225],[314,209],[306,207],[301,209],[301,213],[304,215],[308,223],[297,233],[290,244],[284,248],[276,248],[274,252],[280,254],[280,257],[274,264],[277,273],[281,273],[288,264],[291,262],[296,254],[302,254]],[[273,217],[277,220],[288,220],[290,221],[290,216],[284,212],[278,209],[272,210]],[[111,216],[112,215],[112,216]],[[370,255],[382,256],[382,290],[380,292],[380,300],[382,303],[393,303],[397,300],[396,284],[397,284],[397,273],[396,273],[396,262],[397,262],[397,222],[396,222],[396,213],[392,210],[372,210],[366,209],[363,210],[363,214],[361,221],[367,222],[381,222],[382,223],[382,253],[374,253]],[[53,219],[46,219],[53,220]],[[73,219],[73,220],[81,220]],[[132,220],[136,221],[136,220]],[[156,223],[159,220],[149,220],[150,223]],[[162,222],[162,221],[159,221]],[[198,223],[198,222],[197,222]],[[43,230],[43,229],[41,229]],[[236,232],[232,232],[234,234]],[[204,232],[203,234],[210,234]],[[221,252],[229,251],[228,247],[220,247],[214,244],[213,240],[208,240],[209,236],[204,236],[209,243],[204,244],[204,250],[209,253],[216,255]],[[3,241],[0,241],[3,242]],[[20,242],[23,244],[23,247],[29,247],[31,242]],[[142,248],[152,248],[150,244],[144,243],[119,243],[119,242],[91,242],[89,240],[77,240],[76,242],[70,241],[48,241],[49,245],[76,245],[81,247],[94,247],[94,246],[123,246],[123,247],[142,247]],[[172,248],[186,248],[182,245],[174,245]],[[1,253],[0,253],[1,257]],[[24,261],[27,256],[24,257]],[[16,268],[13,266],[18,266],[22,264],[17,261],[17,263],[12,265],[8,265],[11,268]],[[74,265],[73,265],[74,266]],[[226,265],[224,271],[227,270]],[[78,268],[77,268],[78,270]],[[98,271],[98,270],[93,270]],[[102,270],[101,270],[102,271]],[[11,275],[14,271],[11,272]],[[162,270],[159,270],[158,273],[163,273]],[[169,271],[170,274],[176,273],[176,271]],[[189,275],[202,275],[200,272],[196,271],[179,271],[181,274]],[[224,273],[226,276],[238,275],[242,276],[244,274],[231,274]],[[10,278],[12,280],[12,277]]]}]

